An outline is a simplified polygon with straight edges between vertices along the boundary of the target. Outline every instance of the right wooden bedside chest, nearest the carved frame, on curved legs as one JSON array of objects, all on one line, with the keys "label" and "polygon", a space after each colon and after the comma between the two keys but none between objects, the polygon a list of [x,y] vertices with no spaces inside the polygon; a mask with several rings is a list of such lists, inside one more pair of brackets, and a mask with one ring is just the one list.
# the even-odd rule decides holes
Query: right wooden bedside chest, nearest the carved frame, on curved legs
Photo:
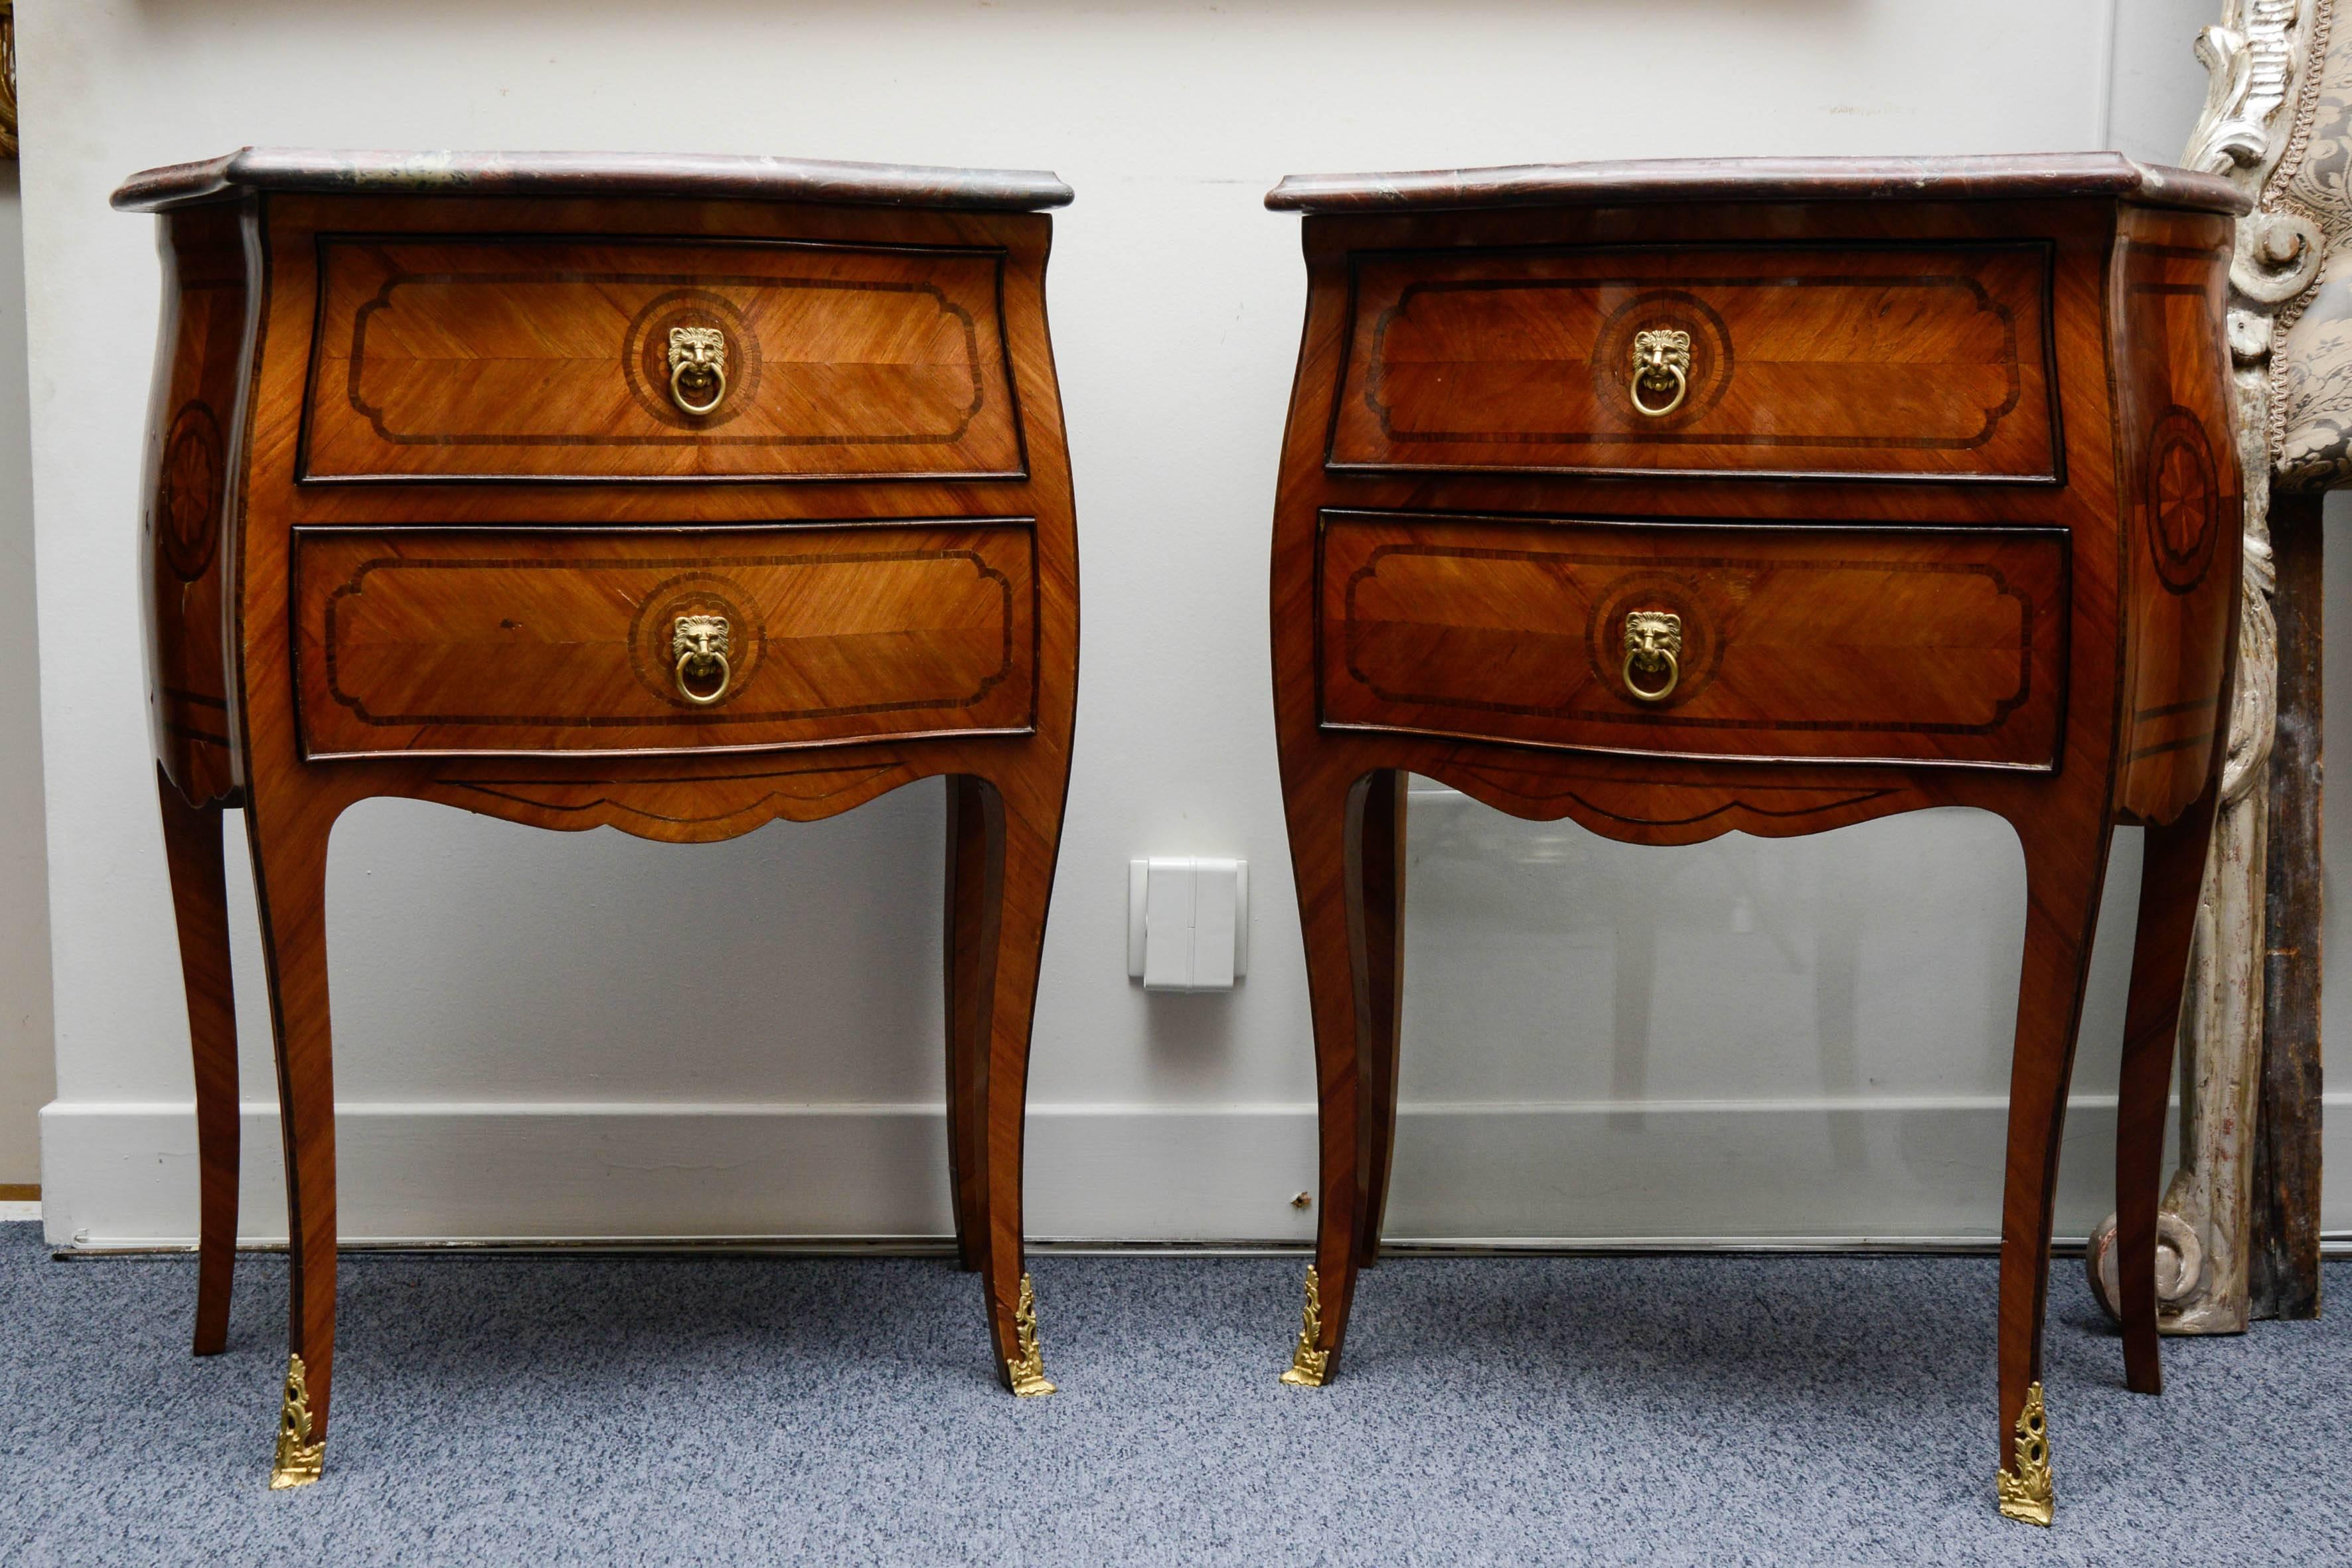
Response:
[{"label": "right wooden bedside chest, nearest the carved frame, on curved legs", "polygon": [[[1411,771],[1635,844],[1924,806],[2016,827],[2004,1467],[2044,1375],[2107,846],[2145,825],[2117,1201],[2126,1382],[2154,1392],[2157,1159],[2237,646],[2244,197],[2053,155],[1294,176],[1268,205],[1308,214],[1272,529],[1319,1084],[1305,1380],[1378,1251]],[[1689,334],[1668,418],[1625,400],[1644,329]],[[1679,616],[1668,701],[1621,665],[1642,611]]]}]

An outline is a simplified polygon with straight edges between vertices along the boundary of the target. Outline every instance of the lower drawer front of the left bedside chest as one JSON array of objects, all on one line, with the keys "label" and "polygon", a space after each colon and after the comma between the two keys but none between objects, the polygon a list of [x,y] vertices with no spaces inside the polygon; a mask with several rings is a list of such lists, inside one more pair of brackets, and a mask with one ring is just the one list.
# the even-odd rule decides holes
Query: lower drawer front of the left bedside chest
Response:
[{"label": "lower drawer front of the left bedside chest", "polygon": [[[609,752],[1035,724],[1028,522],[296,529],[303,755]],[[694,628],[722,621],[727,679]]]}]

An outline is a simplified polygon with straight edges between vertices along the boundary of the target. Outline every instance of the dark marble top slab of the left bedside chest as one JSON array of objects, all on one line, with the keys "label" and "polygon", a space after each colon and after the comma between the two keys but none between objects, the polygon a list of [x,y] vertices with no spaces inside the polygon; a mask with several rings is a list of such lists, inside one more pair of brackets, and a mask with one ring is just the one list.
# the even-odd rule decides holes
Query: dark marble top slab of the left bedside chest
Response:
[{"label": "dark marble top slab of the left bedside chest", "polygon": [[238,148],[132,174],[122,212],[167,212],[240,190],[322,195],[682,195],[851,207],[1040,212],[1070,188],[1044,169],[946,169],[724,153],[379,153]]}]

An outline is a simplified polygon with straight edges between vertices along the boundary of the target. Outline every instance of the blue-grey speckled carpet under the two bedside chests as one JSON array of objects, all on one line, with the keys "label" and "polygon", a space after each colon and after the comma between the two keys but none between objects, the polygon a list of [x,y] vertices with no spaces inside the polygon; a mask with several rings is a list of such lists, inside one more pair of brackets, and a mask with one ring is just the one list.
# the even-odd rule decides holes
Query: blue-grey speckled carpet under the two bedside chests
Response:
[{"label": "blue-grey speckled carpet under the two bedside chests", "polygon": [[[2352,1563],[2352,1324],[2169,1340],[2056,1269],[2058,1526],[1992,1509],[1980,1258],[1040,1258],[1054,1399],[929,1260],[346,1258],[327,1479],[270,1493],[275,1258],[0,1225],[5,1563]],[[2333,1300],[2352,1265],[2328,1265]]]}]

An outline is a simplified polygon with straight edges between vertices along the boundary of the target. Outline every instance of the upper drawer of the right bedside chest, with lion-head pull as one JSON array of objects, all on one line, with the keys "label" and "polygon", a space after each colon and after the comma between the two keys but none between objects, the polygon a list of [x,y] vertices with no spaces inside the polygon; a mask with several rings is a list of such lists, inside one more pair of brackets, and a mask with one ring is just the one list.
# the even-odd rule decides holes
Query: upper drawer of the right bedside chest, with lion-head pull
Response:
[{"label": "upper drawer of the right bedside chest, with lion-head pull", "polygon": [[2060,477],[2039,242],[1352,268],[1331,468]]}]

